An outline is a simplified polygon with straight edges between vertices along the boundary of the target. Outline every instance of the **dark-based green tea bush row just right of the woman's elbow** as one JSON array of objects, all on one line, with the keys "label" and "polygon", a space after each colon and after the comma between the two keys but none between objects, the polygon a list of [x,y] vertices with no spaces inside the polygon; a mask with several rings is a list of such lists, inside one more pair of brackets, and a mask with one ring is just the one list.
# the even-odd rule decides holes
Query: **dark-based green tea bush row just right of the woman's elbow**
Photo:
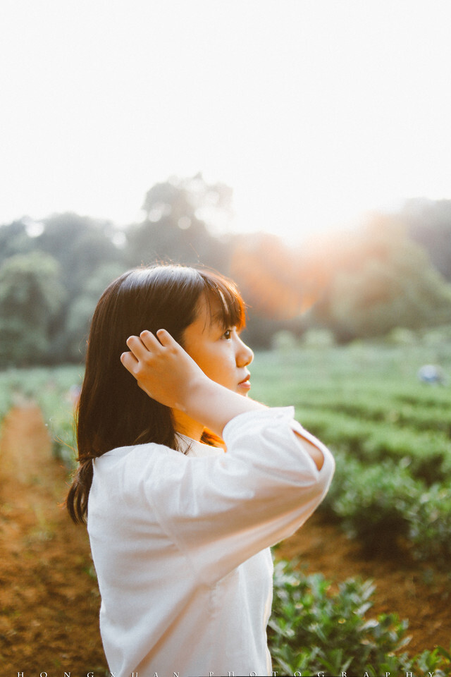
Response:
[{"label": "dark-based green tea bush row just right of the woman's elbow", "polygon": [[364,465],[335,454],[337,470],[321,506],[369,553],[406,544],[438,567],[451,556],[451,480],[427,487],[393,460]]}]

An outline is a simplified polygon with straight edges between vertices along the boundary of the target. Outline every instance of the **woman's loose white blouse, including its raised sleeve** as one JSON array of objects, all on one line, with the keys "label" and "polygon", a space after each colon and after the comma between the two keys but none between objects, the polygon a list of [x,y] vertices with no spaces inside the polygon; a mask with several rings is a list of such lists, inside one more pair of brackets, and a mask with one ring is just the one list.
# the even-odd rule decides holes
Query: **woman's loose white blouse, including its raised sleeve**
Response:
[{"label": "woman's loose white blouse, including its raised sleeve", "polygon": [[[271,675],[269,547],[309,518],[334,470],[293,415],[240,414],[227,453],[190,440],[187,455],[140,444],[95,459],[87,525],[115,677]],[[320,471],[293,431],[321,449]]]}]

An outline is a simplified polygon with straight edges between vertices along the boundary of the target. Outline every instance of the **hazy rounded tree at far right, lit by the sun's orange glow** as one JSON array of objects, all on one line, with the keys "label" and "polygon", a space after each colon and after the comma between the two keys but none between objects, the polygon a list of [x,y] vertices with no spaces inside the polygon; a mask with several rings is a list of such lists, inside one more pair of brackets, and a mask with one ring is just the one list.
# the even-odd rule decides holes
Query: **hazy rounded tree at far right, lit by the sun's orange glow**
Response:
[{"label": "hazy rounded tree at far right, lit by the sun's orange glow", "polygon": [[402,224],[379,215],[335,261],[313,317],[341,341],[380,336],[395,327],[431,327],[450,321],[451,286]]}]

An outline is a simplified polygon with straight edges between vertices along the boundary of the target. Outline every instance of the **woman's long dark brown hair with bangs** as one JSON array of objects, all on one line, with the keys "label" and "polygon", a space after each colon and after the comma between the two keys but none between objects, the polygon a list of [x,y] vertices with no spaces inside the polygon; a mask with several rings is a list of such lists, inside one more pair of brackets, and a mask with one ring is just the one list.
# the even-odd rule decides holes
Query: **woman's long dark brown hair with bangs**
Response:
[{"label": "woman's long dark brown hair with bangs", "polygon": [[137,385],[121,364],[128,336],[167,329],[183,345],[199,298],[218,300],[224,328],[244,327],[245,306],[235,284],[206,269],[155,266],[132,269],[113,281],[97,304],[87,343],[85,378],[78,404],[79,467],[66,506],[75,523],[85,521],[92,459],[119,446],[156,442],[178,449],[171,409]]}]

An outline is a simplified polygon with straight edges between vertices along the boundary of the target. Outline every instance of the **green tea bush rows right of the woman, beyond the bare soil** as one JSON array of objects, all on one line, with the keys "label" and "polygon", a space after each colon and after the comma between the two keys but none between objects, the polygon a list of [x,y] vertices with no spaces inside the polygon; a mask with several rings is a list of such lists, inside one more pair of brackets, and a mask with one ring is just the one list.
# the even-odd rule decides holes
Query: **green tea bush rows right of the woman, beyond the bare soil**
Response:
[{"label": "green tea bush rows right of the woman, beyond the bare soil", "polygon": [[[451,374],[451,346],[440,355]],[[434,357],[374,345],[264,353],[252,365],[252,394],[294,404],[333,451],[321,506],[329,518],[367,551],[407,544],[440,565],[451,554],[451,387],[416,378]]]}]

